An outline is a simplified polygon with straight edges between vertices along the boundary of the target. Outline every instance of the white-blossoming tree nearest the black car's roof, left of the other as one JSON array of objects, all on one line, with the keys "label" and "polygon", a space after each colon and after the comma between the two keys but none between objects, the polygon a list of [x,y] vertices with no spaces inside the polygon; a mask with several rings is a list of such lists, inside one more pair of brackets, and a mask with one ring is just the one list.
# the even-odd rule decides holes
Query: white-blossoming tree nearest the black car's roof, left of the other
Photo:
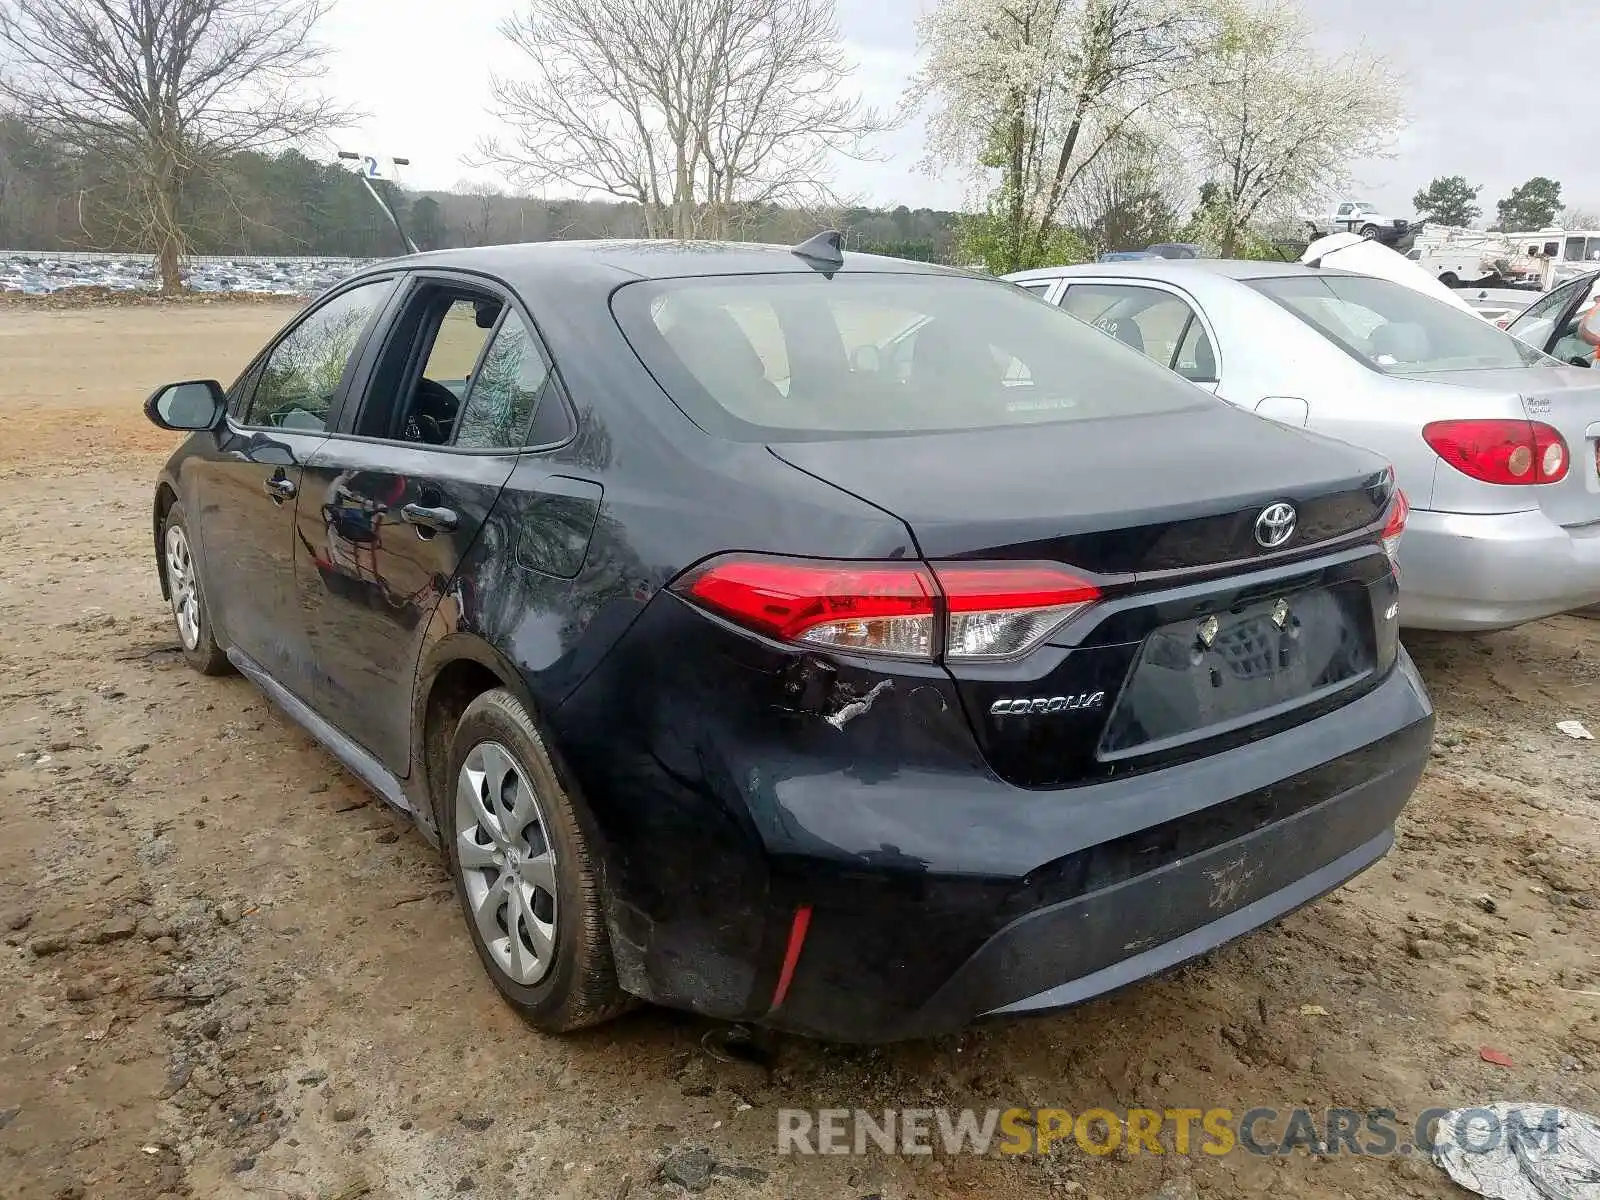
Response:
[{"label": "white-blossoming tree nearest the black car's roof, left of the other", "polygon": [[[1171,94],[1198,32],[1181,0],[941,0],[907,101],[931,171],[986,187],[971,238],[994,270],[1067,250],[1069,197],[1126,125]],[[995,182],[997,181],[997,182]]]}]

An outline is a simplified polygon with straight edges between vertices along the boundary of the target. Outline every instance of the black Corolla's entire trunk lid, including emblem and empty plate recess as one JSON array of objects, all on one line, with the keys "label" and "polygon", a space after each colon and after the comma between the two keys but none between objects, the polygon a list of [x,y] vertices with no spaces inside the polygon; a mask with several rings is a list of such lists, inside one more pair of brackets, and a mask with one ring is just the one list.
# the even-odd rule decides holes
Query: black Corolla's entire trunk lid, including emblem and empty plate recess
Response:
[{"label": "black Corolla's entire trunk lid, including emblem and empty plate recess", "polygon": [[[1360,694],[1394,662],[1371,528],[1381,458],[1227,406],[773,454],[904,520],[923,557],[1051,560],[1102,598],[1008,661],[946,656],[990,768],[1058,787],[1211,754]],[[1256,522],[1299,525],[1262,549]],[[1330,544],[1331,542],[1331,544]]]}]

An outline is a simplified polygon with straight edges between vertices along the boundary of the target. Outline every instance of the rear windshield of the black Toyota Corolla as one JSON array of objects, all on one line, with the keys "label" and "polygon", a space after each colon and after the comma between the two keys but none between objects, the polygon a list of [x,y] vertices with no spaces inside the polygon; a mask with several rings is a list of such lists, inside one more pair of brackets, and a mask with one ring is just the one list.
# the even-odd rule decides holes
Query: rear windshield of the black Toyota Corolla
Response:
[{"label": "rear windshield of the black Toyota Corolla", "polygon": [[842,272],[629,283],[613,312],[712,434],[800,442],[1173,413],[1218,403],[995,280]]}]

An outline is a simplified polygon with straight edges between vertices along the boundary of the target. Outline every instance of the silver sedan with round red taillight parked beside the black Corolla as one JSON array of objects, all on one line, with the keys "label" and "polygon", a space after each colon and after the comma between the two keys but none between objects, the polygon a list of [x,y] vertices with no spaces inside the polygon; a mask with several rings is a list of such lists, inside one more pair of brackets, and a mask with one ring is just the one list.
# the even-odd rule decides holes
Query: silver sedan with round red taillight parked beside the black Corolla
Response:
[{"label": "silver sedan with round red taillight parked beside the black Corolla", "polygon": [[1386,454],[1411,501],[1400,622],[1600,602],[1600,371],[1389,280],[1149,261],[1008,277],[1221,398]]}]

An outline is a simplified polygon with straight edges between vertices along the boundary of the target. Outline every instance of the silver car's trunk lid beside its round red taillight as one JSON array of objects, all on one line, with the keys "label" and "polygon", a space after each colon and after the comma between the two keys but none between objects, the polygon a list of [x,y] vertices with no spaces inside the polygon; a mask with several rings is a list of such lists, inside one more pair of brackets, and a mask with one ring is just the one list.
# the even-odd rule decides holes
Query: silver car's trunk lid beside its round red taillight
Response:
[{"label": "silver car's trunk lid beside its round red taillight", "polygon": [[1501,392],[1530,421],[1542,421],[1560,432],[1571,453],[1571,464],[1560,483],[1515,488],[1526,493],[1557,525],[1600,522],[1600,371],[1581,366],[1504,368],[1491,371],[1434,371],[1408,374],[1475,392]]}]

